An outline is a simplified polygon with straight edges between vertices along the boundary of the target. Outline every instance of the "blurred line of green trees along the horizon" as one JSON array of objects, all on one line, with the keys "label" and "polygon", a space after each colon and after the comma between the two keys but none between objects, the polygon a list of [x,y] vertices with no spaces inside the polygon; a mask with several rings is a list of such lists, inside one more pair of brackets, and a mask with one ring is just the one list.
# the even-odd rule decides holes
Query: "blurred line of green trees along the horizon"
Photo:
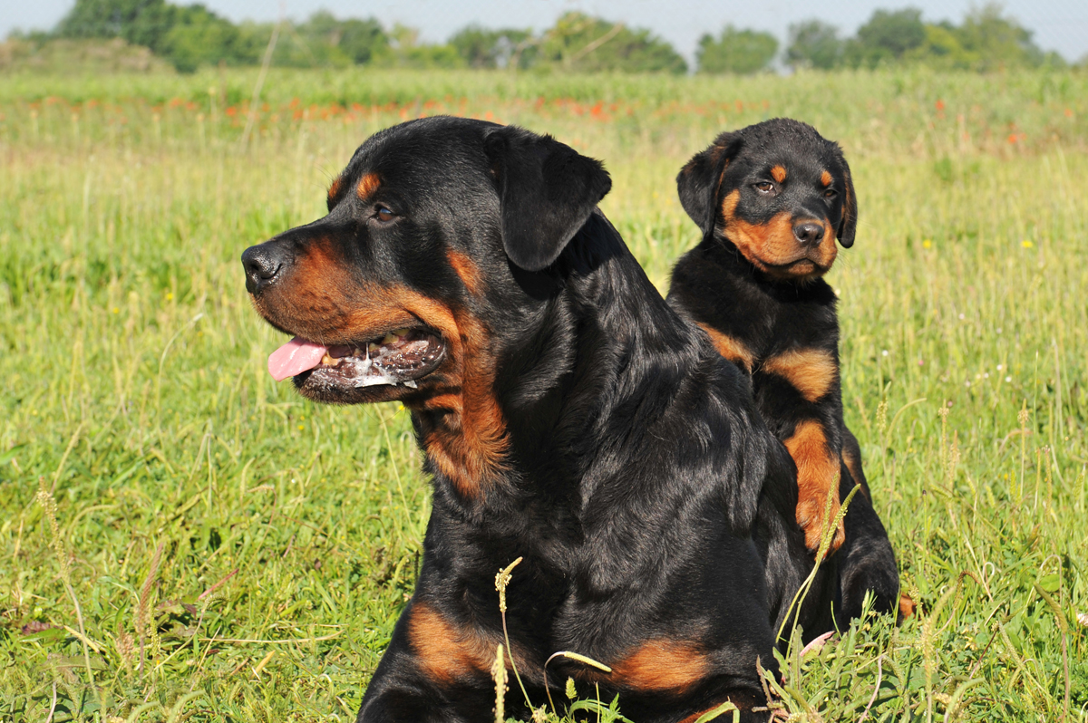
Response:
[{"label": "blurred line of green trees along the horizon", "polygon": [[[275,41],[270,42],[273,37]],[[927,23],[914,8],[877,10],[852,37],[843,37],[839,28],[821,21],[805,21],[790,26],[782,52],[772,34],[730,25],[700,38],[694,68],[648,29],[577,11],[562,14],[540,33],[470,25],[444,43],[428,43],[420,41],[417,29],[405,25],[385,26],[373,17],[337,18],[325,11],[305,22],[234,24],[201,4],[76,0],[53,30],[30,39],[52,38],[123,38],[149,48],[181,72],[201,65],[258,64],[269,49],[272,65],[288,67],[751,74],[769,71],[777,63],[820,70],[926,64],[981,72],[1065,64],[1058,53],[1039,49],[1031,32],[1005,16],[997,4],[970,10],[959,25]]]}]

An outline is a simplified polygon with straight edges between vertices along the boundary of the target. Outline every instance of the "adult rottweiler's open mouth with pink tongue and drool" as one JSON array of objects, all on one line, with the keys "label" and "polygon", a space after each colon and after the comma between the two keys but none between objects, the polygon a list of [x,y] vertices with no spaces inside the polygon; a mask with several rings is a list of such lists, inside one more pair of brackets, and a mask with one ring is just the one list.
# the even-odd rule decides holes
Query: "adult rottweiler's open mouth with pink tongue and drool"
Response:
[{"label": "adult rottweiler's open mouth with pink tongue and drool", "polygon": [[433,372],[445,357],[442,339],[422,328],[399,328],[353,345],[324,346],[296,336],[269,357],[276,382],[301,376],[307,386],[358,388],[403,384]]}]

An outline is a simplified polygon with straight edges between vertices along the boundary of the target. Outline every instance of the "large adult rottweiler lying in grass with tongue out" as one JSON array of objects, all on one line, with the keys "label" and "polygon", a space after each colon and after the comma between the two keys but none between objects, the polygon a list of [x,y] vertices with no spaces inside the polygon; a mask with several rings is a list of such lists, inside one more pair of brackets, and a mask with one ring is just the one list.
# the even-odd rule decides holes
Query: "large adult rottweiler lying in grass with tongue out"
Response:
[{"label": "large adult rottweiler lying in grass with tongue out", "polygon": [[411,121],[355,152],[327,215],[243,254],[254,306],[295,336],[270,371],[317,401],[403,402],[433,477],[360,721],[492,715],[495,574],[519,557],[506,623],[535,705],[566,650],[610,672],[559,658],[554,696],[570,676],[640,723],[727,700],[767,718],[756,661],[777,669],[772,626],[812,569],[792,463],[596,210],[609,188],[547,136]]}]

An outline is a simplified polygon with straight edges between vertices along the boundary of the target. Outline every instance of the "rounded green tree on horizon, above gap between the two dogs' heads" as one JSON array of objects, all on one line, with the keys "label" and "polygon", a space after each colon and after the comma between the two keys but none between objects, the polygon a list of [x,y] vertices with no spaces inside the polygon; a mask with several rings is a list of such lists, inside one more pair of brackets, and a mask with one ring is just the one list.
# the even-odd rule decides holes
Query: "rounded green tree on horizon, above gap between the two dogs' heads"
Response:
[{"label": "rounded green tree on horizon, above gap between the two dogs' heads", "polygon": [[540,43],[541,62],[570,71],[684,73],[688,63],[672,46],[646,29],[630,29],[580,12],[556,21]]}]

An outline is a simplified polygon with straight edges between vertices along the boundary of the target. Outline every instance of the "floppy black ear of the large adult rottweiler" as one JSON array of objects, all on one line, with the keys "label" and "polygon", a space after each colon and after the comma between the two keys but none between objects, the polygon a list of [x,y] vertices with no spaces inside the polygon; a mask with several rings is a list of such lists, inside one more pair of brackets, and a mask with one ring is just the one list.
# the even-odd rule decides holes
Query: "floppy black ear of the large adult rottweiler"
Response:
[{"label": "floppy black ear of the large adult rottweiler", "polygon": [[551,136],[515,126],[491,130],[484,147],[498,185],[507,255],[527,271],[546,269],[611,189],[608,172]]}]

